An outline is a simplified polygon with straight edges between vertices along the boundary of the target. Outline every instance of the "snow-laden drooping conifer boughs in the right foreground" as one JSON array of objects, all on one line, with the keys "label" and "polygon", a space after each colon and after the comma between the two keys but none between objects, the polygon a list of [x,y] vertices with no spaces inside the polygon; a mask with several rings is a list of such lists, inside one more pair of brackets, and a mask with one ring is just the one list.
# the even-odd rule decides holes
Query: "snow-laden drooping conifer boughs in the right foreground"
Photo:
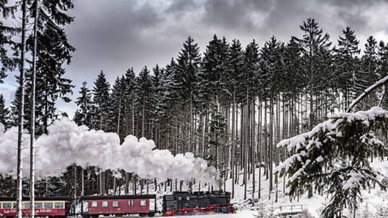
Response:
[{"label": "snow-laden drooping conifer boughs in the right foreground", "polygon": [[360,190],[378,180],[369,158],[376,149],[387,151],[380,138],[387,134],[388,112],[373,107],[369,111],[338,113],[315,126],[310,132],[282,140],[291,156],[276,169],[289,175],[291,199],[313,187],[331,199],[322,211],[325,218],[343,217],[345,207],[357,208]]}]

